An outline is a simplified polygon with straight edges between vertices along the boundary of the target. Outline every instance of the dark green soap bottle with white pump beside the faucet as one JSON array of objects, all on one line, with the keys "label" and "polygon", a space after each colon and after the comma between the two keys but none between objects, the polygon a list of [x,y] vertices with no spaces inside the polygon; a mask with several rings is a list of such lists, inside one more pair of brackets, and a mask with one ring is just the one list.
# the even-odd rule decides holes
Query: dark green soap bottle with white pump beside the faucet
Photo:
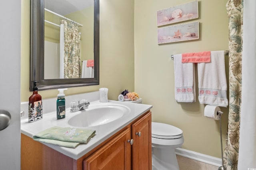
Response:
[{"label": "dark green soap bottle with white pump beside the faucet", "polygon": [[59,94],[57,99],[57,119],[65,118],[66,106],[65,106],[65,94],[64,90],[68,90],[67,88],[59,88]]}]

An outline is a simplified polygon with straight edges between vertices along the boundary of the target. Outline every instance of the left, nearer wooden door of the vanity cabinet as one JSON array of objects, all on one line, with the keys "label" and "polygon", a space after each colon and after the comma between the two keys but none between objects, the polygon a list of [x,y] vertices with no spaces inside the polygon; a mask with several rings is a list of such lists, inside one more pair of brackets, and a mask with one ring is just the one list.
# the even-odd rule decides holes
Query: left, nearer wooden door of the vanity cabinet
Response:
[{"label": "left, nearer wooden door of the vanity cabinet", "polygon": [[84,170],[130,170],[130,128],[122,131],[109,143],[84,160]]}]

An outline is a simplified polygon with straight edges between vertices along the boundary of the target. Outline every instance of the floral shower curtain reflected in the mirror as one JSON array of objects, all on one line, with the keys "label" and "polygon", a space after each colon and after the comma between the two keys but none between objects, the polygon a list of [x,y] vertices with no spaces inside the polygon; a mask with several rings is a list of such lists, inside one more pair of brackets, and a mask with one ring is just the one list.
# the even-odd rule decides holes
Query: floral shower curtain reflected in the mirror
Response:
[{"label": "floral shower curtain reflected in the mirror", "polygon": [[80,78],[80,33],[76,23],[64,24],[64,78]]}]

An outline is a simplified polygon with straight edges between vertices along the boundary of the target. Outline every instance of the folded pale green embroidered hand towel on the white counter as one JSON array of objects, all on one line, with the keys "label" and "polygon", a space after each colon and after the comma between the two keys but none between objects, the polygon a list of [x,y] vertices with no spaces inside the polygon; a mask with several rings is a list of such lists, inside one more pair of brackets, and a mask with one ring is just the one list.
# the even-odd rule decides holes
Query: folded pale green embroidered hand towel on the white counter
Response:
[{"label": "folded pale green embroidered hand towel on the white counter", "polygon": [[34,135],[33,139],[62,147],[75,148],[80,143],[88,143],[95,133],[96,131],[90,129],[54,126]]}]

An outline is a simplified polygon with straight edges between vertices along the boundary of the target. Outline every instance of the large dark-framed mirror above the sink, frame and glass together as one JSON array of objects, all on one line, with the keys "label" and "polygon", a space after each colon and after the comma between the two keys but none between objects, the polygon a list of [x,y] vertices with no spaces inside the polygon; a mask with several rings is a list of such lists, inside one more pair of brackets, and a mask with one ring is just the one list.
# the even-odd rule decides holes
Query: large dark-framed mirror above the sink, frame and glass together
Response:
[{"label": "large dark-framed mirror above the sink, frame and glass together", "polygon": [[[72,11],[63,10],[61,7],[65,4],[64,2],[70,2],[58,1],[58,5],[56,5],[49,4],[53,0],[31,0],[30,91],[32,91],[33,81],[39,82],[38,90],[99,84],[99,0],[93,0],[94,5],[91,3],[94,8],[90,7],[90,4],[68,4],[68,10],[76,9]],[[75,2],[85,3],[86,1],[72,1],[72,3]],[[62,8],[62,11],[57,7]],[[82,8],[78,9],[78,7]],[[78,14],[81,14],[80,17],[75,18],[74,16],[77,17]],[[90,19],[89,16],[93,16],[93,19]],[[86,21],[89,23],[85,23]],[[79,31],[66,32],[68,29],[66,25],[68,28],[73,25],[74,30],[78,29]],[[60,31],[61,26],[64,27],[64,32]],[[65,34],[70,35],[75,42],[80,39],[80,46],[66,44]],[[77,38],[75,35],[80,36]],[[64,45],[62,45],[63,41],[65,41]],[[55,52],[55,56],[52,57],[53,53],[49,53],[49,47],[54,48],[52,51],[57,51],[58,54],[56,55]],[[78,47],[76,52],[68,51],[74,50],[76,47]],[[59,53],[64,53],[64,55]],[[52,60],[52,58],[54,59]],[[75,66],[70,64],[74,61],[76,61]],[[74,68],[78,69],[74,70]],[[92,68],[90,69],[92,76],[85,76],[84,68]]]}]

